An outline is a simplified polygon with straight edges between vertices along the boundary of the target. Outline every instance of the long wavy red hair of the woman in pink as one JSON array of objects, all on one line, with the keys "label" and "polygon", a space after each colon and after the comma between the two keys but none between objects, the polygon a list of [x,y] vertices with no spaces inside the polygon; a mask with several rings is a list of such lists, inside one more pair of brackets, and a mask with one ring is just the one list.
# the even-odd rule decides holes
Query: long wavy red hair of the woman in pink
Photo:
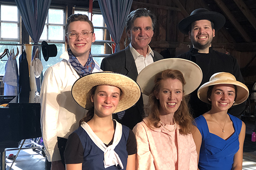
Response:
[{"label": "long wavy red hair of the woman in pink", "polygon": [[[159,110],[161,106],[159,100],[157,100],[154,94],[155,92],[160,91],[162,82],[166,79],[178,79],[182,83],[182,86],[186,84],[183,74],[178,70],[168,69],[156,74],[154,79],[154,88],[152,89],[151,94],[149,95],[148,105],[145,107],[145,116],[148,117],[148,121],[151,127],[160,127]],[[174,119],[180,126],[180,133],[183,135],[187,135],[188,133],[191,133],[193,118],[189,112],[187,104],[189,101],[189,95],[183,95],[182,99],[183,100],[180,103],[180,107],[174,113]]]}]

